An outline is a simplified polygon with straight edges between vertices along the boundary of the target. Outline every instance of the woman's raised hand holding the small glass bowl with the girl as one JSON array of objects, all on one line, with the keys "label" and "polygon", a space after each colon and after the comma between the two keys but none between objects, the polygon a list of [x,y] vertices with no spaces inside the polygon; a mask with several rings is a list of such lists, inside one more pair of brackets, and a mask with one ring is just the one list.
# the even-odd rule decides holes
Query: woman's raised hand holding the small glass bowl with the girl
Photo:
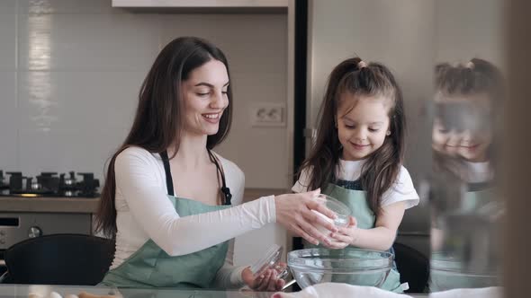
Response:
[{"label": "woman's raised hand holding the small glass bowl with the girl", "polygon": [[315,225],[321,225],[330,232],[338,232],[338,227],[315,212],[311,212],[311,210],[318,211],[330,219],[335,219],[336,214],[329,210],[322,203],[322,200],[316,198],[319,194],[320,189],[299,194],[275,196],[276,222],[281,223],[286,229],[300,235],[310,243],[317,245],[324,242],[328,244],[327,235],[320,232]]}]

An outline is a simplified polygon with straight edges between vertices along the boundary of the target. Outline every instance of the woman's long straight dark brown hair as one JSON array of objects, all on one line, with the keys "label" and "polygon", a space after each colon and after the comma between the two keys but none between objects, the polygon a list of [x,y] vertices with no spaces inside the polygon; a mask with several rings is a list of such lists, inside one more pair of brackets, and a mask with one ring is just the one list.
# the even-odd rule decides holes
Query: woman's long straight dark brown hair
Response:
[{"label": "woman's long straight dark brown hair", "polygon": [[[177,38],[168,43],[158,54],[140,87],[139,105],[130,133],[109,162],[96,216],[95,230],[97,232],[103,232],[105,236],[112,238],[116,234],[114,202],[116,156],[130,146],[139,146],[150,153],[161,153],[170,145],[175,145],[174,152],[178,151],[184,121],[181,83],[188,79],[194,69],[212,59],[222,62],[229,72],[227,58],[220,48],[204,39]],[[207,136],[206,147],[208,149],[220,144],[229,134],[232,118],[230,85],[227,95],[229,106],[220,118],[218,132]]]}]

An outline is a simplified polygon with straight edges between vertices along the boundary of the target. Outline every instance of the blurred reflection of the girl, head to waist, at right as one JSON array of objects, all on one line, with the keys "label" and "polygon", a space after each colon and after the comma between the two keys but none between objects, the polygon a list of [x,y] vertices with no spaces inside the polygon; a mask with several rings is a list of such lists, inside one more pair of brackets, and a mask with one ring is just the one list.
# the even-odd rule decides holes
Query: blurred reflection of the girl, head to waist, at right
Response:
[{"label": "blurred reflection of the girl, head to waist, at right", "polygon": [[440,276],[437,270],[449,269],[448,264],[461,273],[497,266],[494,219],[502,207],[493,191],[493,147],[497,105],[503,97],[501,74],[491,63],[474,58],[464,65],[437,65],[435,79],[431,287],[492,285],[491,280],[483,285],[483,280],[466,276]]}]

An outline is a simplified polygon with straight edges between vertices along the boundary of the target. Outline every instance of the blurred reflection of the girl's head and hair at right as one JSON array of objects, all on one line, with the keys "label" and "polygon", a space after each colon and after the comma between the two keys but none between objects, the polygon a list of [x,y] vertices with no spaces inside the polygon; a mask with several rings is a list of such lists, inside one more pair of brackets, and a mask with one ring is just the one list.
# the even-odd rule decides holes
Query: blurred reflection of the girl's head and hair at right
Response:
[{"label": "blurred reflection of the girl's head and hair at right", "polygon": [[493,179],[492,127],[500,83],[500,71],[482,59],[436,66],[435,170],[449,171],[469,188],[483,188]]}]

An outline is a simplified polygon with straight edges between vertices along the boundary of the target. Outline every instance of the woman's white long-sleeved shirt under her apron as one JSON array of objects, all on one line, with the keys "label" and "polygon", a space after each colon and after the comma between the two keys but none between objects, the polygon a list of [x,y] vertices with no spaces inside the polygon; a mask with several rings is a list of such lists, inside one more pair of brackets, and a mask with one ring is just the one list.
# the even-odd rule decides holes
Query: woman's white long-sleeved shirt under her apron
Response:
[{"label": "woman's white long-sleeved shirt under her apron", "polygon": [[120,266],[149,239],[170,256],[189,254],[229,240],[229,252],[216,276],[216,286],[242,285],[241,271],[245,267],[232,266],[234,237],[275,223],[275,197],[260,197],[241,204],[245,186],[243,172],[233,162],[216,156],[234,207],[184,217],[177,214],[167,197],[164,165],[157,153],[130,147],[116,157],[117,232],[111,269]]}]

